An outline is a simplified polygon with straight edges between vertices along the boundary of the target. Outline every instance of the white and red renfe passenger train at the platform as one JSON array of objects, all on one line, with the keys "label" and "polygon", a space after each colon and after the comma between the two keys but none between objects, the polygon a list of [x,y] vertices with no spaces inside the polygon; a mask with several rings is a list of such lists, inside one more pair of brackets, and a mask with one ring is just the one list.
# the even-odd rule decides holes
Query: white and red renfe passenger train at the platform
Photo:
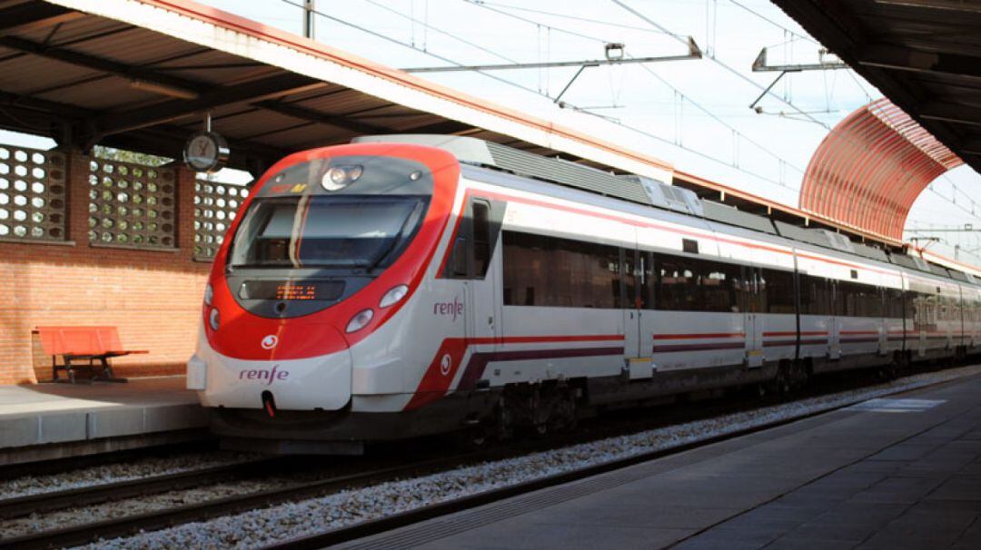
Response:
[{"label": "white and red renfe passenger train at the platform", "polygon": [[981,351],[981,281],[465,136],[291,154],[210,272],[187,386],[228,448],[363,453]]}]

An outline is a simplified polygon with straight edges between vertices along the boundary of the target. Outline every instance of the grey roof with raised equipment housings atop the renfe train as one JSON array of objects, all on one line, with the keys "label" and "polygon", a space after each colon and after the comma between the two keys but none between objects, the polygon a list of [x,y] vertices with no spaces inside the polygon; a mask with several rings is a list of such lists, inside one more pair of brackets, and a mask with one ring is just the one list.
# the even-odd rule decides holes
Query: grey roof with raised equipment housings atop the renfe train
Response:
[{"label": "grey roof with raised equipment housings atop the renfe train", "polygon": [[889,251],[852,241],[847,235],[825,228],[792,225],[766,216],[751,214],[734,206],[698,198],[689,189],[644,175],[615,175],[559,158],[501,145],[476,137],[439,134],[367,135],[354,138],[365,142],[416,143],[438,147],[453,154],[464,164],[475,165],[571,187],[651,208],[668,210],[725,225],[784,237],[793,241],[827,248],[867,260],[892,264],[906,270],[939,275],[969,284],[979,284],[970,274],[929,262],[918,256]]}]

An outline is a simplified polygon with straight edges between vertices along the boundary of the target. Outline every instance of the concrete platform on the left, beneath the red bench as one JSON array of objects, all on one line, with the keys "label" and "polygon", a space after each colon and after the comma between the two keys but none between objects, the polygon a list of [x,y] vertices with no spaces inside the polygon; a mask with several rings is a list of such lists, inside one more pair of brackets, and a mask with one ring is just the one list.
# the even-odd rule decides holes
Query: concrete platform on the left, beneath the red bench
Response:
[{"label": "concrete platform on the left, beneath the red bench", "polygon": [[206,436],[183,376],[0,386],[0,466]]}]

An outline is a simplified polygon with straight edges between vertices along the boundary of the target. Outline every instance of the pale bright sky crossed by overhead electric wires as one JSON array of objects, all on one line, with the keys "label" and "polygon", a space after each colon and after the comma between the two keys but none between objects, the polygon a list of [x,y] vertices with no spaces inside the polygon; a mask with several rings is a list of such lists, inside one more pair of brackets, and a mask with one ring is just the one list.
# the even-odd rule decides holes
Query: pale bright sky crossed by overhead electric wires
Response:
[{"label": "pale bright sky crossed by overhead electric wires", "polygon": [[[302,31],[301,0],[198,1]],[[578,68],[421,76],[794,207],[829,129],[882,96],[851,70],[812,71],[784,76],[750,109],[778,75],[751,71],[762,48],[770,64],[820,58],[820,44],[768,0],[316,0],[316,8],[317,40],[403,69],[602,59],[611,42],[628,58],[678,56],[691,37],[700,60],[588,68],[571,84]],[[567,84],[563,109],[554,98]],[[906,228],[981,227],[979,184],[967,167],[940,177]],[[981,264],[963,255],[981,255],[981,233],[938,234]],[[954,255],[953,246],[931,247]]]}]

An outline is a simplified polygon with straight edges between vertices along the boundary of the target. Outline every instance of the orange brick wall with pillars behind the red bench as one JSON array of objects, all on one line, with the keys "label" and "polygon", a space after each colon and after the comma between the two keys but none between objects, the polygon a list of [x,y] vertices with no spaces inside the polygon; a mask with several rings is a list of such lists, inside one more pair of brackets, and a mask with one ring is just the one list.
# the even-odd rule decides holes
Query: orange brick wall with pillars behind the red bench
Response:
[{"label": "orange brick wall with pillars behind the red bench", "polygon": [[176,251],[89,245],[88,157],[68,157],[68,240],[0,241],[0,384],[51,376],[37,358],[37,325],[116,325],[123,345],[148,355],[114,360],[119,375],[181,374],[194,349],[209,265],[192,260],[194,175],[177,177]]}]

